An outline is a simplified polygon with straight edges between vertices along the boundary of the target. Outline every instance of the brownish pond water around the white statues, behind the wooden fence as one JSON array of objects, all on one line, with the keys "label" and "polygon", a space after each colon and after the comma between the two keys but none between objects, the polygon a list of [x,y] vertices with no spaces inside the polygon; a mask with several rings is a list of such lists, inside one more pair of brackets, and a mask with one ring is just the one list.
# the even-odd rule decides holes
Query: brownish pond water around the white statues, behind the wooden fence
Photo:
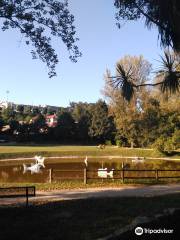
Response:
[{"label": "brownish pond water around the white statues, behind the wooden fence", "polygon": [[[108,171],[112,169],[121,169],[122,162],[124,162],[126,169],[180,169],[180,163],[175,161],[163,160],[145,160],[143,163],[132,163],[131,159],[110,159],[110,158],[91,158],[88,159],[88,174],[90,177],[97,178],[98,168],[107,168]],[[35,164],[35,160],[21,160],[21,161],[1,161],[0,160],[0,182],[1,183],[42,183],[49,182],[50,169],[52,169],[53,180],[64,179],[83,179],[84,176],[84,158],[79,159],[45,159],[45,168],[41,167],[38,173],[33,173],[30,170],[24,171],[24,166],[30,167]],[[120,172],[115,174],[115,177],[120,176]],[[131,176],[132,173],[126,173]],[[137,174],[137,173],[136,173]],[[140,176],[145,176],[147,173],[138,173]],[[142,175],[145,174],[145,175]],[[154,177],[154,172],[148,173]],[[177,173],[178,174],[178,173]],[[179,174],[180,175],[180,172]]]}]

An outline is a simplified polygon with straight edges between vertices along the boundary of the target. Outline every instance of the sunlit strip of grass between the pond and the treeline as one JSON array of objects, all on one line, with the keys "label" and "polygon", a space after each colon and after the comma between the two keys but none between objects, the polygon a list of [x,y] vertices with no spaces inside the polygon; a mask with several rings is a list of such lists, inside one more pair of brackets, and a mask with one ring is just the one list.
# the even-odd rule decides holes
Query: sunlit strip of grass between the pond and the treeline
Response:
[{"label": "sunlit strip of grass between the pond and the treeline", "polygon": [[[0,159],[43,156],[140,156],[164,157],[153,149],[131,149],[107,146],[97,149],[96,146],[0,146]],[[179,156],[179,152],[171,158]]]}]

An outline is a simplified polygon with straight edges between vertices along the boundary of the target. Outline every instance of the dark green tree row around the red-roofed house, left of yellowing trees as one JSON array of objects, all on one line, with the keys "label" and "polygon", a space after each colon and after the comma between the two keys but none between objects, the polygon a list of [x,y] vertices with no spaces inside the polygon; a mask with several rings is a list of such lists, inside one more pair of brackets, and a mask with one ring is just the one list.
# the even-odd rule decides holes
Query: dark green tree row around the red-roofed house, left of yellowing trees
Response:
[{"label": "dark green tree row around the red-roofed house, left of yellowing trees", "polygon": [[[48,127],[46,116],[49,114],[57,115],[55,127]],[[59,111],[24,109],[23,105],[16,110],[8,107],[1,111],[0,129],[1,138],[18,142],[113,143],[115,136],[113,117],[109,116],[108,106],[102,100],[94,104],[71,103]]]}]

